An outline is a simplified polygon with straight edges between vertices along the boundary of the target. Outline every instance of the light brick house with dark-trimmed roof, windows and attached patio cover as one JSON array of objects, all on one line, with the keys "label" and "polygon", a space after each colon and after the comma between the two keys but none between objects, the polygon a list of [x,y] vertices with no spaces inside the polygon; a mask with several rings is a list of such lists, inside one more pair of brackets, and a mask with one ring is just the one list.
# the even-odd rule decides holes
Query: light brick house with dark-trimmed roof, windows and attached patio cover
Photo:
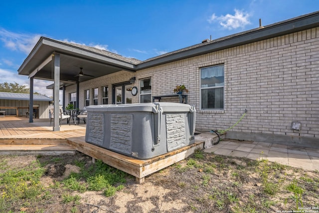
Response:
[{"label": "light brick house with dark-trimmed roof, windows and attached patio cover", "polygon": [[[62,83],[65,104],[82,109],[96,104],[151,102],[153,96],[172,94],[176,85],[184,84],[189,90],[187,103],[197,111],[196,129],[227,129],[247,111],[227,131],[227,138],[319,147],[319,11],[204,40],[145,61],[41,39],[19,68],[20,74],[36,70],[39,65],[32,57],[42,46],[44,51],[45,45],[54,46],[61,58],[66,53],[72,57],[82,54],[87,66],[90,60],[104,66],[83,69],[92,77],[79,76],[73,84]],[[95,60],[92,55],[96,55]],[[40,68],[48,71],[55,61],[47,61]],[[133,87],[138,88],[135,96]]]}]

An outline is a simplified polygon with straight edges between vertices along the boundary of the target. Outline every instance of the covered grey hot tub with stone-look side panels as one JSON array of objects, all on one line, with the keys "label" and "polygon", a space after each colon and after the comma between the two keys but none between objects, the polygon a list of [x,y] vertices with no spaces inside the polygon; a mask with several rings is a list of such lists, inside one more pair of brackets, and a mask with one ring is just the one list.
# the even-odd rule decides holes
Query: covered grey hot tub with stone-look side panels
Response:
[{"label": "covered grey hot tub with stone-look side panels", "polygon": [[195,107],[154,102],[87,108],[85,141],[138,159],[193,144]]}]

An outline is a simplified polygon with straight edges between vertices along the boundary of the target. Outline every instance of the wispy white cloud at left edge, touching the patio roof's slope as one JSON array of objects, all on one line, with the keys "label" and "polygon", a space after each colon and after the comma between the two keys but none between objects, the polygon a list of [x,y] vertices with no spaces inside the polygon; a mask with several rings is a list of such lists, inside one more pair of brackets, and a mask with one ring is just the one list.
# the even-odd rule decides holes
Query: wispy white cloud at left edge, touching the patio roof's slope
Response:
[{"label": "wispy white cloud at left edge, touching the patio roof's slope", "polygon": [[29,54],[40,39],[39,34],[15,33],[0,28],[0,40],[8,49]]}]

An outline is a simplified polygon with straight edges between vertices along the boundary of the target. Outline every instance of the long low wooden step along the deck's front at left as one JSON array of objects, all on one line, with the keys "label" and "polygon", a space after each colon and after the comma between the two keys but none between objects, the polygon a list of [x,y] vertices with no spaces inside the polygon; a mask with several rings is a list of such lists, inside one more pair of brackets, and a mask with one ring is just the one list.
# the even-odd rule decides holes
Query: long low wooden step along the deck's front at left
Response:
[{"label": "long low wooden step along the deck's front at left", "polygon": [[73,155],[75,153],[76,149],[68,145],[0,145],[0,155]]}]

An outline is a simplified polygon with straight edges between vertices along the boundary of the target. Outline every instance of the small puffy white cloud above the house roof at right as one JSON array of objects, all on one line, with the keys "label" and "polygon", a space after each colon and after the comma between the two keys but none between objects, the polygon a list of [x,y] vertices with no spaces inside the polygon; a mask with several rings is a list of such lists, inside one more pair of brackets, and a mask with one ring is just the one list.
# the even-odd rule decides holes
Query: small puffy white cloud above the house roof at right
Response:
[{"label": "small puffy white cloud above the house roof at right", "polygon": [[247,12],[240,11],[235,9],[235,14],[226,14],[221,16],[216,16],[215,13],[211,15],[208,19],[209,23],[213,21],[219,21],[219,24],[226,29],[237,29],[239,27],[244,28],[247,24],[250,24],[249,21],[250,14]]}]

